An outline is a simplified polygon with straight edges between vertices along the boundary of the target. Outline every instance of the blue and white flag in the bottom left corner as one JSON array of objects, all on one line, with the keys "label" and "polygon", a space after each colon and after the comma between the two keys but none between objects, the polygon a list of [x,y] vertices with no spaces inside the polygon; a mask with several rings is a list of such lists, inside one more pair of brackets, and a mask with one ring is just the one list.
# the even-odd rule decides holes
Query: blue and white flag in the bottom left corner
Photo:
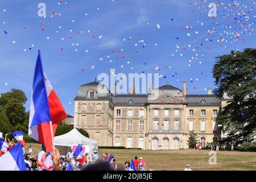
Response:
[{"label": "blue and white flag in the bottom left corner", "polygon": [[0,171],[26,171],[21,143],[0,158]]}]

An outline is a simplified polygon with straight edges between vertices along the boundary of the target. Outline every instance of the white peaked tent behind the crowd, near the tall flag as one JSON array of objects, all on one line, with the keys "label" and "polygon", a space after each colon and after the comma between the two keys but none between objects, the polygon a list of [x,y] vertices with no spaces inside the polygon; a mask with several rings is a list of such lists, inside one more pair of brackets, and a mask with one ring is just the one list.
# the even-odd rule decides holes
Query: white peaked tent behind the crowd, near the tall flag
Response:
[{"label": "white peaked tent behind the crowd, near the tall flag", "polygon": [[98,149],[97,141],[85,137],[77,129],[73,129],[69,133],[54,138],[54,145],[60,150],[61,155],[66,155],[74,143],[89,146],[90,157],[92,157],[93,151]]}]

